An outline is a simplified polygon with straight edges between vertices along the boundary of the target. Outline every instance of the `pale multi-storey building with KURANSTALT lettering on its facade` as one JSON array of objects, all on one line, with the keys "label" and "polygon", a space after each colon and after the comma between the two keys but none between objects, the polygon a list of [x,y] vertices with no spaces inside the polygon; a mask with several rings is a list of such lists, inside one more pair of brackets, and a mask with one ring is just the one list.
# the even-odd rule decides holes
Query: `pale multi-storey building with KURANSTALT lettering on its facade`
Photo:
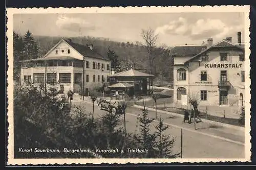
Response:
[{"label": "pale multi-storey building with KURANSTALT lettering on its facade", "polygon": [[[231,37],[207,44],[174,46],[174,103],[182,107],[182,94],[196,98],[201,106],[244,105],[244,43]],[[187,101],[188,103],[188,101]],[[184,108],[184,107],[183,107]]]}]

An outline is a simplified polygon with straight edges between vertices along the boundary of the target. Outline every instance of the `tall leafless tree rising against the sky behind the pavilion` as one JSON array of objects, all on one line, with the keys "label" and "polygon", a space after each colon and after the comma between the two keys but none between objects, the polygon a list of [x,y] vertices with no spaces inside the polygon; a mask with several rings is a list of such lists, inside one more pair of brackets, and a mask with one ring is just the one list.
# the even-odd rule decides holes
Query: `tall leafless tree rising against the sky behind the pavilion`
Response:
[{"label": "tall leafless tree rising against the sky behind the pavilion", "polygon": [[158,39],[158,34],[155,34],[155,30],[148,28],[147,30],[142,29],[141,36],[145,41],[145,47],[148,55],[148,62],[150,64],[150,74],[152,74],[153,61],[156,58],[156,56],[153,56],[152,53],[156,45],[156,41]]}]

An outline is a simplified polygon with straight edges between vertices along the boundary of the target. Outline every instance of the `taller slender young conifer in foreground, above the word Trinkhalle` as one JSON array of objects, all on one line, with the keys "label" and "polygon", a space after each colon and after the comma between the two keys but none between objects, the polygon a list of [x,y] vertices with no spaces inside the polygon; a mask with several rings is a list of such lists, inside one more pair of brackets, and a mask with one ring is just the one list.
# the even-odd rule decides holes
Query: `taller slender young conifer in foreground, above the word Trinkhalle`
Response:
[{"label": "taller slender young conifer in foreground, above the word Trinkhalle", "polygon": [[145,108],[141,109],[142,117],[138,117],[140,122],[140,134],[138,136],[134,136],[135,140],[141,143],[143,149],[147,149],[148,153],[146,154],[146,158],[153,158],[155,156],[155,133],[150,133],[150,124],[153,122],[153,119],[148,118],[148,110]]}]

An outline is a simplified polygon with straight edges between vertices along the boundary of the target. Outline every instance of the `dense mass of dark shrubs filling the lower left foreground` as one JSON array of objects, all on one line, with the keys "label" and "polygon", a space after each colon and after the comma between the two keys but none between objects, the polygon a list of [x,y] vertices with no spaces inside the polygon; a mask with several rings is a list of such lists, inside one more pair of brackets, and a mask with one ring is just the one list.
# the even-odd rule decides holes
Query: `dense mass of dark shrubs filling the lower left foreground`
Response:
[{"label": "dense mass of dark shrubs filling the lower left foreground", "polygon": [[[155,133],[149,133],[146,109],[140,118],[141,134],[126,133],[120,127],[121,115],[106,112],[92,119],[76,106],[71,114],[63,101],[42,96],[33,86],[16,88],[14,95],[14,157],[15,158],[155,158]],[[93,121],[92,121],[93,120]],[[142,125],[144,124],[144,126]],[[146,135],[144,135],[144,132]],[[137,140],[135,140],[137,139]],[[19,148],[59,149],[57,153],[22,153]],[[63,153],[67,149],[90,149],[89,153]],[[128,148],[148,149],[145,153],[126,152]],[[117,153],[96,150],[118,149]],[[92,152],[94,151],[94,152]],[[121,152],[123,151],[123,152]],[[168,150],[169,152],[169,150]]]}]

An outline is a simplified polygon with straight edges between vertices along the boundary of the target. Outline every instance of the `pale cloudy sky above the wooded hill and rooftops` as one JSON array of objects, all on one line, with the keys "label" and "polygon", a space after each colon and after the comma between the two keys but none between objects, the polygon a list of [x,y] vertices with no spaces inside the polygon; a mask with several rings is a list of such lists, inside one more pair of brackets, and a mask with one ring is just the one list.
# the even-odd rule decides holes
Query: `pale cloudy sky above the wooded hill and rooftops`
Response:
[{"label": "pale cloudy sky above the wooded hill and rooftops", "polygon": [[14,31],[21,35],[29,30],[37,36],[93,36],[143,42],[141,30],[151,28],[158,35],[158,45],[201,44],[207,38],[217,43],[226,37],[237,42],[239,31],[244,41],[244,14],[240,12],[14,14],[13,17]]}]

